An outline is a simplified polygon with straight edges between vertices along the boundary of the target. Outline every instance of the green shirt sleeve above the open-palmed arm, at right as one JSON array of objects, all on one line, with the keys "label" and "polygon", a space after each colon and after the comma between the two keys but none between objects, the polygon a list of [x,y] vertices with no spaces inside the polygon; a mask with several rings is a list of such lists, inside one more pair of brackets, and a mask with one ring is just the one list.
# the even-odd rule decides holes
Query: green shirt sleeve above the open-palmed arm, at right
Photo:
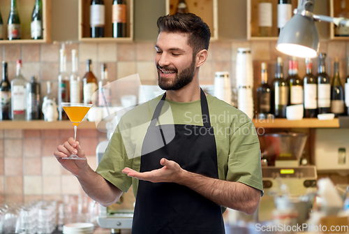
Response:
[{"label": "green shirt sleeve above the open-palmed arm, at right", "polygon": [[245,122],[230,136],[227,180],[259,189],[263,195],[260,142],[253,122]]}]

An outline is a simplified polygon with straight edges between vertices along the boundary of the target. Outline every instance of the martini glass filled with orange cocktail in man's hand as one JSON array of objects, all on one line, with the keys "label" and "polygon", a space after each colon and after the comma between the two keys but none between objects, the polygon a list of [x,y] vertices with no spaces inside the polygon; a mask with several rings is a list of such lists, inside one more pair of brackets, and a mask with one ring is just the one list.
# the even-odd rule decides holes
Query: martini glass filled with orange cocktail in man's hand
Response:
[{"label": "martini glass filled with orange cocktail in man's hand", "polygon": [[[68,115],[70,122],[74,126],[74,140],[76,139],[77,126],[79,126],[82,119],[84,119],[87,112],[91,108],[92,104],[85,103],[61,103],[66,115]],[[62,159],[82,159],[76,154],[71,154],[70,156]]]}]

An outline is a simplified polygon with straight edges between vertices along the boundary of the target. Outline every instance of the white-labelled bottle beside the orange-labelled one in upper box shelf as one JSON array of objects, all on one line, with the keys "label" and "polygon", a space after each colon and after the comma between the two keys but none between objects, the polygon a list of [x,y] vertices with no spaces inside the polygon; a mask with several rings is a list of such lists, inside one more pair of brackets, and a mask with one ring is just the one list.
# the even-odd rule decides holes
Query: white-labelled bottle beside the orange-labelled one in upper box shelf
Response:
[{"label": "white-labelled bottle beside the orange-labelled one in upper box shelf", "polygon": [[92,0],[90,6],[91,38],[103,38],[105,26],[105,6],[103,0]]}]

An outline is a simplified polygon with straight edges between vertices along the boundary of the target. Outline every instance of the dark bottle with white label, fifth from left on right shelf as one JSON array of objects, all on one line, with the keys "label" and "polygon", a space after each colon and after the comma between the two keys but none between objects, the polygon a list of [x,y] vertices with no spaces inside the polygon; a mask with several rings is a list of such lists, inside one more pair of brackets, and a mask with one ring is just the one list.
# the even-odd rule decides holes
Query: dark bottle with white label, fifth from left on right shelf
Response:
[{"label": "dark bottle with white label, fifth from left on right shelf", "polygon": [[326,73],[326,54],[320,53],[318,57],[318,114],[329,113],[331,106],[331,85]]}]

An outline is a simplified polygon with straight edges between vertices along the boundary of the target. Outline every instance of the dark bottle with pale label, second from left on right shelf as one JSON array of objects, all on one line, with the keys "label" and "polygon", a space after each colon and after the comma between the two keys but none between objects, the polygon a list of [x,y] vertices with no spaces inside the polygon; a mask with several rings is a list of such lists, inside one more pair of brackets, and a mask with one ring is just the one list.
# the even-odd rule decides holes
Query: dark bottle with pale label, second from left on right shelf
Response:
[{"label": "dark bottle with pale label, second from left on right shelf", "polygon": [[278,57],[274,79],[274,114],[276,118],[286,117],[288,104],[288,82],[283,79],[283,60]]}]

